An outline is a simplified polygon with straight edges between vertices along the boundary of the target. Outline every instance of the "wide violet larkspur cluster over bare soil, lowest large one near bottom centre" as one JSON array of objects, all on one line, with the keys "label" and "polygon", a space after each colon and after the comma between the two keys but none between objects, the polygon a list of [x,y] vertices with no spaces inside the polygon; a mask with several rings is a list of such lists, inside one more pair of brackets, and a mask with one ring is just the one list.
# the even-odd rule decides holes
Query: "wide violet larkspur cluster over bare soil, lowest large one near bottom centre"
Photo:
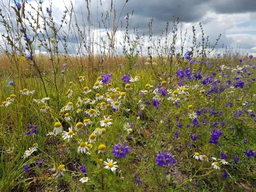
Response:
[{"label": "wide violet larkspur cluster over bare soil, lowest large one near bottom centre", "polygon": [[162,150],[160,150],[158,152],[158,154],[155,155],[156,158],[156,163],[159,167],[162,167],[163,165],[166,165],[168,167],[168,165],[172,165],[172,167],[175,167],[175,164],[177,163],[177,160],[170,155],[169,153],[163,152]]}]

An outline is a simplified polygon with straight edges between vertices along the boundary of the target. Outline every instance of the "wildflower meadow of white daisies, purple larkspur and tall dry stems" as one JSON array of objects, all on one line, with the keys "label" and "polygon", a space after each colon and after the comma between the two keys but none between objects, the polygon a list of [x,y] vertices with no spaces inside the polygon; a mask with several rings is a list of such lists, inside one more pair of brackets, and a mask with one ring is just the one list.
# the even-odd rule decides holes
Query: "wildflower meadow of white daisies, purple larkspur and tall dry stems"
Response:
[{"label": "wildflower meadow of white daisies, purple larkspur and tall dry stems", "polygon": [[256,191],[254,55],[37,2],[0,2],[0,191]]}]

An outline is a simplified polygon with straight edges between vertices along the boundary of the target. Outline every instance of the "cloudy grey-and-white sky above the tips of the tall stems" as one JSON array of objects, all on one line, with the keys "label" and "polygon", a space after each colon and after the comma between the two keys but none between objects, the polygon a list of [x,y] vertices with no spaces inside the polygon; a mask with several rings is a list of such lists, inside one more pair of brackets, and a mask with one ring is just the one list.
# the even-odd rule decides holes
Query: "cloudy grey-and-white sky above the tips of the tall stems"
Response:
[{"label": "cloudy grey-and-white sky above the tips of the tall stems", "polygon": [[[32,0],[30,2],[36,5],[37,1]],[[79,14],[87,17],[85,0],[71,0],[71,2],[74,11],[78,13],[78,23],[82,25],[82,17]],[[110,2],[111,0],[101,0],[102,7],[100,7],[100,0],[91,0],[92,22],[97,22],[97,15],[98,20],[100,20],[102,11],[105,14],[106,11],[109,12]],[[50,3],[52,3],[52,15],[57,22],[61,20],[65,6],[68,9],[71,7],[70,0],[45,0],[42,7],[49,7]],[[120,20],[124,23],[125,13],[129,13],[131,16],[133,11],[131,26],[139,26],[139,33],[145,33],[145,36],[148,35],[148,21],[152,17],[154,19],[154,33],[157,36],[164,29],[167,20],[170,21],[171,27],[172,16],[174,15],[175,18],[182,18],[184,22],[182,31],[187,28],[190,37],[192,35],[191,26],[194,25],[196,33],[199,33],[198,23],[201,22],[205,36],[210,36],[212,44],[221,33],[218,44],[220,50],[223,44],[224,47],[240,47],[244,52],[256,54],[256,0],[129,0],[121,13],[124,3],[125,0],[113,0],[116,15],[120,15]],[[117,35],[121,35],[121,32]],[[186,43],[189,45],[189,42]],[[179,44],[180,37],[177,39],[177,46]]]}]

